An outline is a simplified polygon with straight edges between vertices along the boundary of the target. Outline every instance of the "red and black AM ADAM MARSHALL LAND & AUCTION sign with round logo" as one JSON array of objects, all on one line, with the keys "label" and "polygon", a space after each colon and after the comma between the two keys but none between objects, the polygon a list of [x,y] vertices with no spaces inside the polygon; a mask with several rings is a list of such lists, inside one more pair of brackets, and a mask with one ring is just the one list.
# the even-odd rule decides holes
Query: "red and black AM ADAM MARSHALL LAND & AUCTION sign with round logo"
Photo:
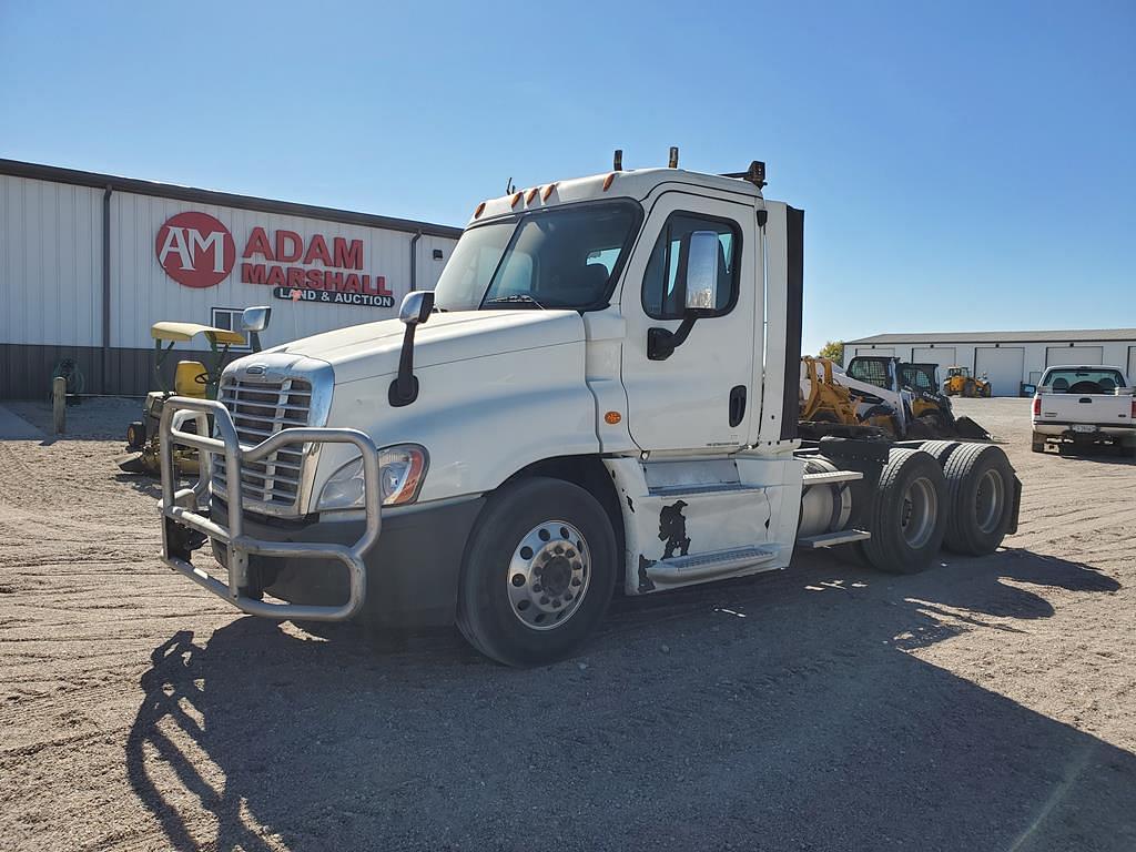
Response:
[{"label": "red and black AM ADAM MARSHALL LAND & AUCTION sign with round logo", "polygon": [[[186,287],[214,287],[233,272],[236,243],[228,228],[209,214],[187,211],[169,217],[154,239],[158,262]],[[323,234],[307,242],[294,231],[272,236],[253,227],[241,251],[241,282],[273,287],[277,299],[328,304],[393,308],[386,277],[364,273],[362,240]]]}]

